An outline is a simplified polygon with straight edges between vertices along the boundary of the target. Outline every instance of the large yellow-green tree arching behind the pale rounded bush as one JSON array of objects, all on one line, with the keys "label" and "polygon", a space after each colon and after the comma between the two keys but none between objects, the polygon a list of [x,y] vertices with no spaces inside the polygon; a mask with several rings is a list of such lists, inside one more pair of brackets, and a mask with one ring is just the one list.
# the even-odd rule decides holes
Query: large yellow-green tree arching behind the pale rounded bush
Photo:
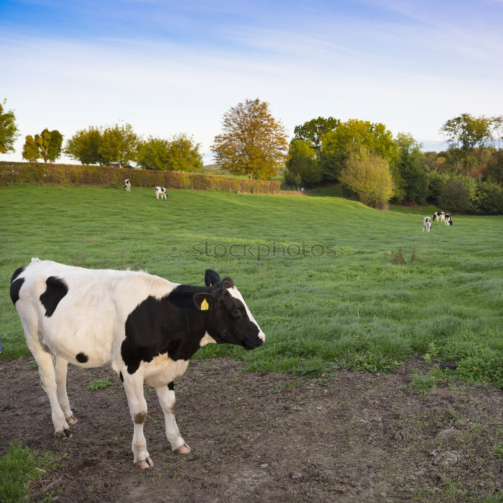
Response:
[{"label": "large yellow-green tree arching behind the pale rounded bush", "polygon": [[396,143],[393,134],[381,123],[359,119],[341,122],[336,129],[328,131],[322,140],[321,169],[323,179],[337,180],[354,148],[362,146],[376,155],[394,163]]}]

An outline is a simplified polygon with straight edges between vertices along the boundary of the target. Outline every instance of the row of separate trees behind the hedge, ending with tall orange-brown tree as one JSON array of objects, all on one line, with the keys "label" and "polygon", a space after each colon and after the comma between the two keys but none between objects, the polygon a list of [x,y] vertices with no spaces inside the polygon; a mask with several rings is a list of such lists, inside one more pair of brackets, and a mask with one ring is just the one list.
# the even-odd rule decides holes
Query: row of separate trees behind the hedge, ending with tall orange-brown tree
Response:
[{"label": "row of separate trees behind the hedge, ending with tall orange-brown tree", "polygon": [[[0,153],[14,151],[12,145],[19,136],[12,111],[8,121],[11,130],[2,130],[0,125],[0,136],[5,133],[9,148]],[[282,123],[272,117],[268,103],[259,99],[239,103],[224,114],[222,126],[222,133],[215,136],[211,146],[222,171],[250,179],[278,174],[288,158],[287,133]],[[48,129],[26,136],[23,158],[30,162],[40,158],[54,162],[64,153],[82,164],[117,163],[122,167],[134,162],[142,169],[163,171],[194,171],[203,167],[200,144],[184,133],[171,139],[144,140],[130,124],[115,124],[81,129],[66,140],[64,147],[62,138],[59,131]]]}]

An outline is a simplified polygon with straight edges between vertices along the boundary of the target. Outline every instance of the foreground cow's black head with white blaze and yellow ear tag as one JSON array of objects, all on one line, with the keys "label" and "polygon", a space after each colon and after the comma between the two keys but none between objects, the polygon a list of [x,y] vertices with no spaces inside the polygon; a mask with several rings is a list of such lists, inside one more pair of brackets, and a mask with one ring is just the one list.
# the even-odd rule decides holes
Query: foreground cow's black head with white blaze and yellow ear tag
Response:
[{"label": "foreground cow's black head with white blaze and yellow ear tag", "polygon": [[238,344],[244,349],[264,343],[266,336],[232,279],[221,280],[218,273],[208,269],[205,283],[210,291],[194,294],[194,303],[201,311],[207,311],[208,334],[217,343]]}]

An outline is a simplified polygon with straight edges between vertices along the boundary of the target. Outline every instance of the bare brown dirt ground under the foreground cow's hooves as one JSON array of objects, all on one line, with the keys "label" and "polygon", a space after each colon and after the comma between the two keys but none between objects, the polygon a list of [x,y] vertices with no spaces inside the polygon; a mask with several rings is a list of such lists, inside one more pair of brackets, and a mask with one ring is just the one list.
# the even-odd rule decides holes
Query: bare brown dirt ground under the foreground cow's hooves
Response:
[{"label": "bare brown dirt ground under the foreground cow's hooves", "polygon": [[[2,362],[0,454],[21,440],[64,455],[31,487],[33,501],[54,491],[58,503],[464,502],[501,494],[503,391],[462,383],[417,391],[411,370],[429,369],[418,360],[393,374],[341,371],[330,380],[193,360],[175,383],[178,424],[193,452],[171,452],[155,392],[145,387],[154,466],[144,471],[132,463],[132,421],[111,370],[69,368],[78,423],[72,438],[55,440],[34,360]],[[91,391],[94,379],[113,385]]]}]

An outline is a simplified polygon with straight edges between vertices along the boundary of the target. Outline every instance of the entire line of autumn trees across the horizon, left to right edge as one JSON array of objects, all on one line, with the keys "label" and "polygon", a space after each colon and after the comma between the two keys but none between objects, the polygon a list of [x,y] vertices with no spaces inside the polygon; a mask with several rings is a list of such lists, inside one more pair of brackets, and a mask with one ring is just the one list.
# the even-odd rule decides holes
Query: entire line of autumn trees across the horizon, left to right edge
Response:
[{"label": "entire line of autumn trees across the horizon, left to right edge", "polygon": [[[1,107],[0,153],[9,144],[12,149],[17,135],[14,113]],[[447,120],[440,132],[447,150],[423,152],[412,135],[393,137],[382,123],[318,117],[295,126],[288,142],[269,104],[255,99],[224,114],[222,132],[210,148],[227,173],[267,179],[283,170],[287,184],[306,186],[338,181],[345,196],[376,208],[433,202],[450,212],[503,213],[503,116],[464,113]],[[57,130],[27,136],[23,157],[52,162],[62,151],[84,164],[135,162],[165,171],[203,166],[200,144],[192,137],[144,140],[129,124],[82,129],[62,150],[61,142]]]}]

